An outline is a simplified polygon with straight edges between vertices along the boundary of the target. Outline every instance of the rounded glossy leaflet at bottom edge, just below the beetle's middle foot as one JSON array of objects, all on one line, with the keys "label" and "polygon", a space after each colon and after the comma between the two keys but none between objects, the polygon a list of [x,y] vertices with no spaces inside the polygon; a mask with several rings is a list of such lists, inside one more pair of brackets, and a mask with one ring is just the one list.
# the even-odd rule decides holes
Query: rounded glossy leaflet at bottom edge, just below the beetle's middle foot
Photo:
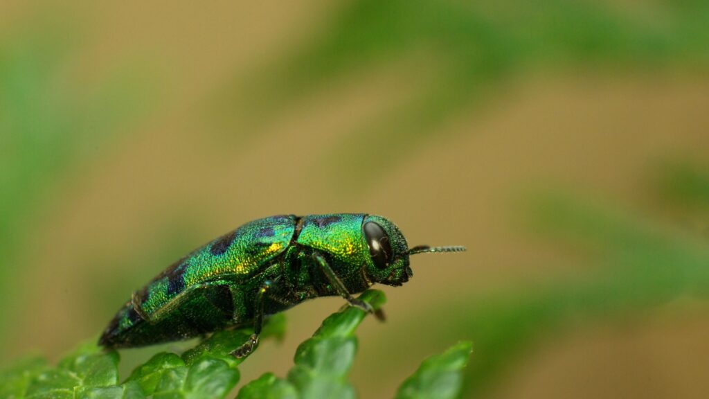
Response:
[{"label": "rounded glossy leaflet at bottom edge, just below the beetle's middle foot", "polygon": [[239,381],[239,371],[219,359],[168,369],[155,389],[155,399],[224,398]]}]

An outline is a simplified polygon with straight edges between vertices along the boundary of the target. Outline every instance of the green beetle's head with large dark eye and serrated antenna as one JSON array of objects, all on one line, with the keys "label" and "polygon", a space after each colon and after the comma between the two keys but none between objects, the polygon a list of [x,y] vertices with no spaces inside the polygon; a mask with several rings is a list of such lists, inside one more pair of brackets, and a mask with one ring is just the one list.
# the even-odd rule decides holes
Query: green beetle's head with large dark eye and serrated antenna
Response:
[{"label": "green beetle's head with large dark eye and serrated antenna", "polygon": [[367,241],[370,255],[364,273],[374,283],[386,285],[406,283],[413,276],[413,270],[409,266],[409,256],[415,253],[465,251],[462,246],[409,248],[396,224],[376,215],[364,218],[362,233]]}]

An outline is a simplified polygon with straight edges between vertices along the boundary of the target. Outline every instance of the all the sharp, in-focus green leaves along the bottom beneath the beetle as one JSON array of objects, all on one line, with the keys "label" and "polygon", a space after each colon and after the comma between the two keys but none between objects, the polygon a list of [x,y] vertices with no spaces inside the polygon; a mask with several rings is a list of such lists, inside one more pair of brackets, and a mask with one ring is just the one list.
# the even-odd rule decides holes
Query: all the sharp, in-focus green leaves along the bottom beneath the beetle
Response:
[{"label": "all the sharp, in-focus green leaves along the bottom beneath the beetle", "polygon": [[[384,293],[369,290],[359,299],[379,309]],[[354,332],[365,312],[345,307],[323,321],[313,337],[304,341],[294,356],[286,378],[265,373],[243,386],[239,399],[356,398],[347,381],[357,352]],[[262,337],[284,334],[282,315],[272,317]],[[32,359],[0,374],[0,398],[26,399],[213,399],[225,398],[239,382],[238,366],[245,359],[229,354],[247,341],[244,329],[212,334],[194,348],[178,355],[160,352],[135,368],[120,382],[118,353],[84,344],[65,356],[57,366]],[[444,354],[432,356],[399,388],[396,398],[456,398],[462,388],[462,371],[471,344],[461,342]]]}]

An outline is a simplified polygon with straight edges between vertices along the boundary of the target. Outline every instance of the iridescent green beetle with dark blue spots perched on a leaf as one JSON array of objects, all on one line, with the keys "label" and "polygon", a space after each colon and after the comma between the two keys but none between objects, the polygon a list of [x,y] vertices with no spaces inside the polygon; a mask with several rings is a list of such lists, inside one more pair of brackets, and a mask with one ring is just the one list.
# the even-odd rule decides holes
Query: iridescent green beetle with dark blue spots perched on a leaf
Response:
[{"label": "iridescent green beetle with dark blue spots perched on a leaf", "polygon": [[133,293],[99,344],[145,346],[253,323],[250,341],[233,351],[246,356],[264,317],[325,295],[341,295],[371,312],[352,294],[374,283],[406,283],[414,253],[453,251],[464,248],[408,248],[396,225],[375,215],[257,219],[189,253]]}]

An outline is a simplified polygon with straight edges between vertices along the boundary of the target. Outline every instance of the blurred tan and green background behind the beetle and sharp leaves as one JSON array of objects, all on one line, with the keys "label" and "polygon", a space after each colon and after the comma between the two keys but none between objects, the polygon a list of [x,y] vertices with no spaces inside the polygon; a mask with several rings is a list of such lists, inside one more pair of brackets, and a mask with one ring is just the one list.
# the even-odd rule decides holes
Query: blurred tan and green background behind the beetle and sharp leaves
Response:
[{"label": "blurred tan and green background behind the beetle and sharp leaves", "polygon": [[466,398],[705,398],[709,2],[71,3],[0,3],[0,366],[239,224],[369,212],[469,251],[384,288],[362,398],[459,339]]}]

